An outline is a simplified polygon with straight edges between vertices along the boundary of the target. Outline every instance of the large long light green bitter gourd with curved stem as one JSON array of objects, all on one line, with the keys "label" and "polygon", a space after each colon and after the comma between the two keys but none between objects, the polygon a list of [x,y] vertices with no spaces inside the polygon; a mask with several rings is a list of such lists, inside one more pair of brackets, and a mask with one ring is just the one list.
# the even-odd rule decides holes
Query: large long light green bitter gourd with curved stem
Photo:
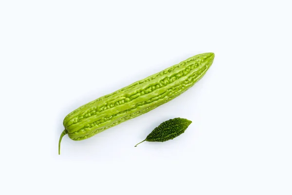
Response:
[{"label": "large long light green bitter gourd with curved stem", "polygon": [[66,134],[73,140],[86,139],[178,97],[205,75],[214,57],[213,53],[193,56],[77,108],[63,121],[59,150]]}]

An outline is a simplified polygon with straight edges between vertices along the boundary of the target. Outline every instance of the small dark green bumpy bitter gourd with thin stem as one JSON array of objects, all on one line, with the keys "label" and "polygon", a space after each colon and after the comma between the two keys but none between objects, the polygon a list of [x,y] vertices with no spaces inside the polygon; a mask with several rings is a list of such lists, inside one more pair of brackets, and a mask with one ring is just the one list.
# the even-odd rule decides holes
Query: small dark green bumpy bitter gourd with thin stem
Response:
[{"label": "small dark green bumpy bitter gourd with thin stem", "polygon": [[[143,141],[167,141],[183,134],[192,121],[185,118],[173,118],[156,127]],[[140,144],[138,143],[138,144]],[[137,144],[137,145],[138,145]],[[135,147],[137,146],[135,145]]]}]

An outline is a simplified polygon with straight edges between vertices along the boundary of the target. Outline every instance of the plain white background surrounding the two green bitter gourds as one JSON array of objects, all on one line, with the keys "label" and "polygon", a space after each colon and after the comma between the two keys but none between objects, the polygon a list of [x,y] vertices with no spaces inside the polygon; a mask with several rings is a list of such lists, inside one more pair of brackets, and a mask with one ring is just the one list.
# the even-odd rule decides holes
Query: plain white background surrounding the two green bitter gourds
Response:
[{"label": "plain white background surrounding the two green bitter gourds", "polygon": [[[291,195],[290,0],[1,0],[0,194]],[[77,107],[191,56],[207,74],[90,139]],[[166,119],[183,135],[143,140]]]}]

